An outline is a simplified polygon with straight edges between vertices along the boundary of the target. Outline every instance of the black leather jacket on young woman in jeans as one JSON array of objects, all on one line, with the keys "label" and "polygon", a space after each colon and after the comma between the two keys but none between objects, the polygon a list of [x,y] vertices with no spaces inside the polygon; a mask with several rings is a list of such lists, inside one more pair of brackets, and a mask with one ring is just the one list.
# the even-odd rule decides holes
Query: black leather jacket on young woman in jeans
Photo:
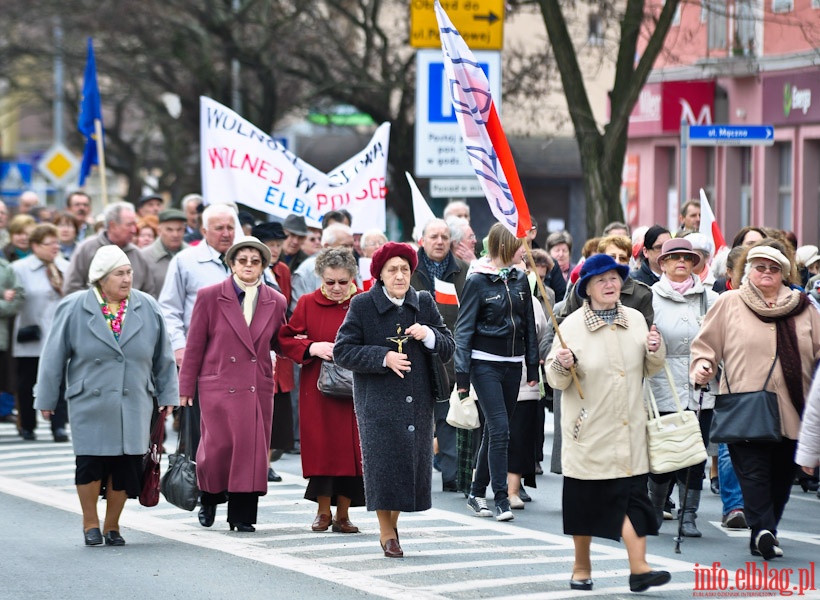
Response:
[{"label": "black leather jacket on young woman in jeans", "polygon": [[527,381],[538,381],[538,339],[532,295],[526,275],[510,271],[505,281],[497,273],[473,273],[464,284],[456,321],[456,382],[470,387],[472,351],[497,356],[524,356]]}]

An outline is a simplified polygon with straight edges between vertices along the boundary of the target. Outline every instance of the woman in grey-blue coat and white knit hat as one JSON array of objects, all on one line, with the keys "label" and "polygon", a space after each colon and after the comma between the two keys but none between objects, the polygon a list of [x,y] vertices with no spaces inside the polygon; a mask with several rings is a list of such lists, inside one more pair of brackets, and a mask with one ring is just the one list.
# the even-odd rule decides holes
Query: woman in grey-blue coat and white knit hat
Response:
[{"label": "woman in grey-blue coat and white knit hat", "polygon": [[[167,413],[179,404],[179,386],[165,321],[151,296],[131,289],[125,253],[115,245],[103,246],[88,277],[90,289],[57,306],[37,373],[34,406],[49,419],[64,393],[85,544],[98,546],[104,540],[122,546],[119,518],[126,499],[137,497],[142,486],[153,398]],[[102,531],[100,495],[106,498]]]}]

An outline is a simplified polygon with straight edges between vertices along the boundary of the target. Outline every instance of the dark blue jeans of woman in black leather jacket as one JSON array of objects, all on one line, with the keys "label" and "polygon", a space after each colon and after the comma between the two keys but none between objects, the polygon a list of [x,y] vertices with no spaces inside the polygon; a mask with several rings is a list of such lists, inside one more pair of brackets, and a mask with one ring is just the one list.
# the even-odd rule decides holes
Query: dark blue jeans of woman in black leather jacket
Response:
[{"label": "dark blue jeans of woman in black leather jacket", "polygon": [[521,363],[474,360],[470,381],[484,415],[484,436],[478,449],[473,477],[473,496],[483,497],[492,483],[495,501],[507,498],[507,447],[510,417],[518,401]]}]

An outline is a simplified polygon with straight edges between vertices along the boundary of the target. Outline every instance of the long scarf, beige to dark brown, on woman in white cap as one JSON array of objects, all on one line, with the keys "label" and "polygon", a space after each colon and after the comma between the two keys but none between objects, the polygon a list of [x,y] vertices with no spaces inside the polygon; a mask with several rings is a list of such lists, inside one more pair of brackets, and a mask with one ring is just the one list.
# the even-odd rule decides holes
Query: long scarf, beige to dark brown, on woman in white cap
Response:
[{"label": "long scarf, beige to dark brown, on woman in white cap", "polygon": [[780,368],[789,398],[797,414],[803,416],[805,398],[803,396],[803,369],[800,361],[800,350],[797,346],[797,330],[794,317],[806,310],[809,300],[800,290],[791,290],[791,294],[778,306],[770,307],[763,300],[763,295],[751,282],[740,286],[740,297],[754,315],[764,323],[774,323],[777,333],[777,355],[780,357]]}]

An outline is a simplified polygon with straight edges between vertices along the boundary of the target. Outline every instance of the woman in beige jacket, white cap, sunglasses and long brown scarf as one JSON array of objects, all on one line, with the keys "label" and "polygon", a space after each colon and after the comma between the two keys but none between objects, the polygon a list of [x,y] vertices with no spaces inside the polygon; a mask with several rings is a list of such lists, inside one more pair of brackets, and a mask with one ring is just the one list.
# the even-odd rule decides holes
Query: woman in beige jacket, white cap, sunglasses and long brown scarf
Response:
[{"label": "woman in beige jacket, white cap, sunglasses and long brown scarf", "polygon": [[820,313],[793,284],[790,249],[766,239],[739,261],[740,289],[722,294],[692,343],[690,377],[705,385],[723,362],[720,392],[777,395],[782,438],[779,442],[729,444],[743,491],[753,556],[783,556],[777,525],[794,478],[795,444],[814,366],[820,359]]}]

